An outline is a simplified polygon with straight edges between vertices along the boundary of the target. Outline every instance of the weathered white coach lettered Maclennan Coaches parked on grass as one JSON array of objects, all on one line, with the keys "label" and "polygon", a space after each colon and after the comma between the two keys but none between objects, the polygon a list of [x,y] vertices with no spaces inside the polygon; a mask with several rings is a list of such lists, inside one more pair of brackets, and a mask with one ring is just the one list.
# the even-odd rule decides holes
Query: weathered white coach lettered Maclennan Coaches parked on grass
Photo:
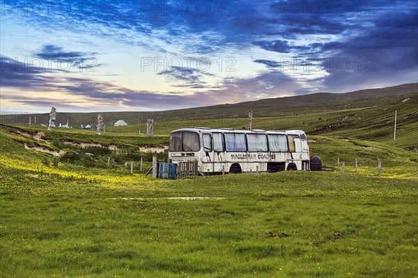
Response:
[{"label": "weathered white coach lettered Maclennan Coaches parked on grass", "polygon": [[197,161],[201,174],[309,170],[309,146],[300,130],[177,129],[169,161]]}]

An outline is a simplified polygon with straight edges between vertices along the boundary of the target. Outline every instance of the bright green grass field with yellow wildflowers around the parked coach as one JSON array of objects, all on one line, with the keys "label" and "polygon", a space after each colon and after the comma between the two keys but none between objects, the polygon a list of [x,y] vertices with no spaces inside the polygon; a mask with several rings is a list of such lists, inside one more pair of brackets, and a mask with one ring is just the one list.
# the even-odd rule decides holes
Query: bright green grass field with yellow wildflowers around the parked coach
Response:
[{"label": "bright green grass field with yellow wildflowers around the parked coach", "polygon": [[[38,142],[0,128],[1,277],[418,276],[414,152],[309,136],[311,153],[334,171],[162,180],[22,145],[58,149],[60,140],[98,137],[64,132]],[[99,141],[115,140],[132,147],[168,138]]]}]

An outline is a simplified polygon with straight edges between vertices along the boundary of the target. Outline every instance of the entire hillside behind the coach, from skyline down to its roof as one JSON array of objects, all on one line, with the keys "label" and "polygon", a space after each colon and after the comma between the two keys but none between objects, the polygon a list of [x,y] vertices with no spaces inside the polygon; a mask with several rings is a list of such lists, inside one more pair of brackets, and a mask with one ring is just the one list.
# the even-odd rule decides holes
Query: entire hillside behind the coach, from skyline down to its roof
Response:
[{"label": "entire hillside behind the coach, from skyline down to its roof", "polygon": [[[156,121],[157,138],[148,140],[144,137],[137,144],[167,143],[170,131],[191,126],[242,129],[247,126],[247,113],[252,110],[254,129],[302,129],[309,135],[339,136],[393,144],[394,113],[397,111],[396,146],[415,151],[418,148],[417,107],[417,83],[412,83],[345,94],[319,93],[180,111],[104,113],[107,136],[97,140],[105,144],[132,141],[140,133],[146,133],[148,118]],[[55,132],[71,133],[68,135],[70,140],[92,140],[91,136],[95,140],[94,129],[78,128],[80,124],[97,122],[97,114],[59,113],[56,122],[65,124],[69,120],[75,129],[56,128]],[[32,121],[33,116],[31,115]],[[47,114],[37,117],[38,123],[47,123]],[[111,126],[111,122],[121,118],[128,122],[128,126]],[[27,125],[29,115],[3,115],[1,121],[22,122]],[[25,129],[46,130],[46,127],[36,126],[31,129],[26,126]],[[46,133],[46,136],[54,135]]]}]

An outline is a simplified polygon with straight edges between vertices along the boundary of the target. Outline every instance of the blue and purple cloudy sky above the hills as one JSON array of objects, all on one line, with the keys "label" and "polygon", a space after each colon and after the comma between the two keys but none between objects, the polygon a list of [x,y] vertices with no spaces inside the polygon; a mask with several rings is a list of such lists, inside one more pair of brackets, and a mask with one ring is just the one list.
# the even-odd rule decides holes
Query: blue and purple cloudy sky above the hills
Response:
[{"label": "blue and purple cloudy sky above the hills", "polygon": [[0,112],[164,111],[418,82],[418,1],[1,0]]}]

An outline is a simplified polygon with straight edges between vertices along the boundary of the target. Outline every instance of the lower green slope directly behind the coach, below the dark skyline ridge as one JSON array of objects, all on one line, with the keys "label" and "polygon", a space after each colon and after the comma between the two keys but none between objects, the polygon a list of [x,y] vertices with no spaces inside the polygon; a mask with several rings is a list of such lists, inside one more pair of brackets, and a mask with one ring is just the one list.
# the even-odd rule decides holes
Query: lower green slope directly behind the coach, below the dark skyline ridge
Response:
[{"label": "lower green slope directly behind the coach, below the dark skyline ridge", "polygon": [[[408,101],[404,101],[409,99]],[[327,113],[308,113],[293,115],[279,115],[271,117],[254,116],[254,129],[302,129],[312,135],[357,138],[375,142],[394,143],[394,116],[397,111],[396,147],[415,152],[418,147],[418,97],[398,96],[381,101],[380,104],[367,108],[346,108]],[[100,140],[111,142],[127,142],[139,140],[137,144],[167,143],[168,135],[173,129],[191,126],[209,126],[212,128],[231,127],[242,129],[247,126],[247,117],[219,118],[194,120],[171,120],[155,123],[155,137],[146,138],[146,124],[130,124],[128,126],[107,127],[104,136],[95,136],[94,130],[59,129],[54,133],[69,133],[69,140]],[[36,130],[39,127],[24,127]],[[42,128],[46,130],[46,127]],[[141,132],[141,135],[139,134]],[[54,133],[45,133],[53,138]],[[77,134],[80,133],[80,134]],[[75,135],[77,134],[77,135]]]}]

